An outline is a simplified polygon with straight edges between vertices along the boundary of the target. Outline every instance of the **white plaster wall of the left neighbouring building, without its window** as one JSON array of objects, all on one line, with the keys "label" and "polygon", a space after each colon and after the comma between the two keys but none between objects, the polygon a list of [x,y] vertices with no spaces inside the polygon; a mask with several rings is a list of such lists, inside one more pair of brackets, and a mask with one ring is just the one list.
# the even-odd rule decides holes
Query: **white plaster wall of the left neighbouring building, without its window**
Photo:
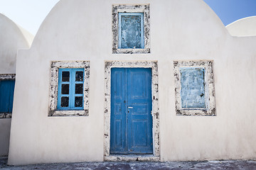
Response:
[{"label": "white plaster wall of the left neighbouring building, without its window", "polygon": [[[0,74],[15,74],[16,55],[20,48],[29,48],[33,35],[0,13]],[[11,119],[0,118],[0,156],[9,152]]]}]

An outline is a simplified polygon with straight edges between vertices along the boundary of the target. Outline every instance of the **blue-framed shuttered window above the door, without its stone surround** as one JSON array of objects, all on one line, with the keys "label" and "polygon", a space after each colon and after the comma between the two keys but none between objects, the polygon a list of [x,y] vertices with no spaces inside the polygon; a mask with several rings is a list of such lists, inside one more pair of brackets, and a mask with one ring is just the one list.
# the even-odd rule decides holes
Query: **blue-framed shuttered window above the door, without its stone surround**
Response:
[{"label": "blue-framed shuttered window above the door, without its stone surround", "polygon": [[144,48],[144,13],[119,13],[118,48]]}]

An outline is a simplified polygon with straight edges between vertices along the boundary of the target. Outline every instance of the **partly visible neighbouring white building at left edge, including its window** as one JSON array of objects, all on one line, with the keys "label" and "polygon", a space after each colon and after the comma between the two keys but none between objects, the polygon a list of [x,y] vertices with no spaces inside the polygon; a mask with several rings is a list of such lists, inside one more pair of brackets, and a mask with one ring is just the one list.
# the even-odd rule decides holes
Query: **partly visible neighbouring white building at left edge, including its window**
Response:
[{"label": "partly visible neighbouring white building at left edge, including its window", "polygon": [[0,13],[0,156],[9,152],[17,50],[28,49],[32,40],[33,35]]}]

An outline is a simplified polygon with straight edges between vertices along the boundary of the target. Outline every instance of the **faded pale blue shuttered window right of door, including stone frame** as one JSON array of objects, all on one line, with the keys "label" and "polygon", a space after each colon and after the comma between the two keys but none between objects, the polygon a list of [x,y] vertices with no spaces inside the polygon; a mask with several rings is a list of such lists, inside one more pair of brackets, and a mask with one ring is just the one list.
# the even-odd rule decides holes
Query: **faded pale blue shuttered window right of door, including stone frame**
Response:
[{"label": "faded pale blue shuttered window right of door, including stone frame", "polygon": [[212,61],[174,61],[177,115],[215,115]]}]

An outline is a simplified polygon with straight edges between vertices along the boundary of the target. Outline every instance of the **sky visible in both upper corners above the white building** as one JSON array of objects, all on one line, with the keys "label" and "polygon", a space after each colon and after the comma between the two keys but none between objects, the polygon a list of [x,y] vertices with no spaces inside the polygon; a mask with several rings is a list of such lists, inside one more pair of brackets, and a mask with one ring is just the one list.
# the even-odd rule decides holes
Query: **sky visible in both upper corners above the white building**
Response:
[{"label": "sky visible in both upper corners above the white building", "polygon": [[[16,24],[28,30],[28,32],[36,35],[41,23],[58,1],[59,0],[0,0],[0,13],[3,13]],[[256,0],[203,1],[215,11],[225,26],[240,18],[256,16]]]}]

